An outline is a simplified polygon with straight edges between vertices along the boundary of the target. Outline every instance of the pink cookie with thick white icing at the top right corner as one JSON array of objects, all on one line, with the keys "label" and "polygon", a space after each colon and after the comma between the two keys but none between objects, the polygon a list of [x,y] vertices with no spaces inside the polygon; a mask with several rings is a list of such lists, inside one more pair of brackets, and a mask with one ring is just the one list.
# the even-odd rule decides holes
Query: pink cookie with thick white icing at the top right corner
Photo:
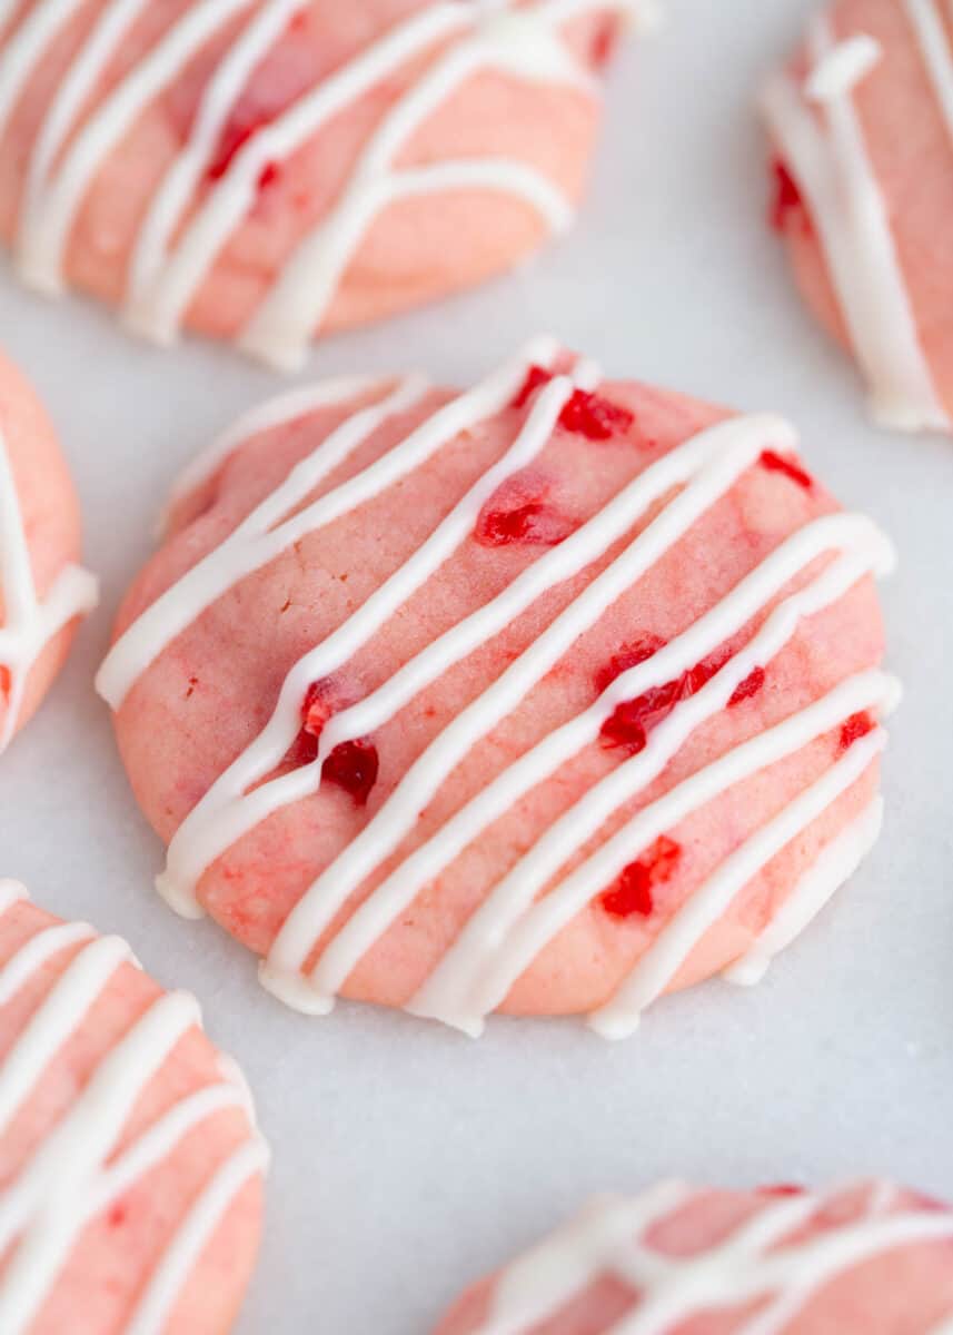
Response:
[{"label": "pink cookie with thick white icing at the top right corner", "polygon": [[874,417],[953,430],[953,11],[838,0],[762,107],[774,223],[809,304],[853,351]]}]

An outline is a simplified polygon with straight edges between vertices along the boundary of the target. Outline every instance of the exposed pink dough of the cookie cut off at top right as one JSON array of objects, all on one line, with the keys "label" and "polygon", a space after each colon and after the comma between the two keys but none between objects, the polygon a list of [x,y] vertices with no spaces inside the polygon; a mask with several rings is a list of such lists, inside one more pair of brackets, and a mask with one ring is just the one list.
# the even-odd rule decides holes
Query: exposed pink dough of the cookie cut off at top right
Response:
[{"label": "exposed pink dough of the cookie cut off at top right", "polygon": [[[878,63],[853,89],[853,108],[889,220],[917,343],[938,405],[953,421],[953,263],[946,242],[953,211],[953,120],[946,117],[953,100],[945,116],[914,9],[936,24],[937,51],[948,63],[946,95],[953,99],[953,13],[944,0],[837,0],[828,21],[834,43],[864,36],[880,45]],[[801,49],[789,72],[804,88],[810,69],[812,56]],[[814,104],[810,111],[824,127],[825,108]],[[775,183],[773,218],[787,243],[798,286],[822,324],[850,350],[844,292],[832,272],[822,228],[812,218],[810,191],[777,134],[773,150],[775,170],[783,167],[789,178]],[[846,195],[846,171],[842,164],[834,171]]]}]

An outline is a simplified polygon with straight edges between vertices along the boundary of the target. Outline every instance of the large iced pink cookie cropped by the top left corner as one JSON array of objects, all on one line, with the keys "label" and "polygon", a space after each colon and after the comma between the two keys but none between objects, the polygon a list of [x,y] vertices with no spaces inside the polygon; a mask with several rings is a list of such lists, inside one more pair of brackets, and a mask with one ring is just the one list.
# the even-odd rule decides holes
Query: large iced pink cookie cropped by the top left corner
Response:
[{"label": "large iced pink cookie cropped by the top left corner", "polygon": [[294,366],[571,222],[641,0],[32,0],[0,29],[0,230],[33,286]]}]

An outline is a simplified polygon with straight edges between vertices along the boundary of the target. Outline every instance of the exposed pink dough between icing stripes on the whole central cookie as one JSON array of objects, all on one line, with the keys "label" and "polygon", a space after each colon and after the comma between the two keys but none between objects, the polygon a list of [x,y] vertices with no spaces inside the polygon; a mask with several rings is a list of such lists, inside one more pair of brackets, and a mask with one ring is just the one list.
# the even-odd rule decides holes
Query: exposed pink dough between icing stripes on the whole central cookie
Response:
[{"label": "exposed pink dough between icing stripes on the whole central cookie", "polygon": [[[338,467],[320,494],[382,458],[408,431],[447,402],[431,392],[424,406],[390,418],[348,463]],[[525,425],[535,402],[506,407],[452,441],[398,486],[310,534],[294,550],[244,578],[160,653],[136,681],[116,718],[119,745],[135,793],[148,820],[166,841],[184,817],[259,734],[276,706],[292,665],[360,607],[382,581],[400,566],[434,530],[463,493],[498,461]],[[559,426],[535,463],[489,502],[478,529],[494,513],[530,506],[539,541],[486,545],[476,530],[463,541],[423,589],[334,674],[330,709],[364,697],[440,633],[483,606],[541,555],[558,537],[601,510],[621,487],[657,463],[666,451],[725,414],[674,394],[634,383],[606,383],[598,402],[631,414],[610,439],[589,439]],[[296,462],[359,405],[314,413],[294,425],[240,446],[182,499],[167,541],[129,591],[117,621],[125,630],[164,590],[212,551],[252,507],[271,493]],[[782,446],[782,449],[785,449]],[[412,832],[350,897],[331,928],[315,943],[310,964],[354,914],[370,892],[411,850],[419,848],[467,800],[527,749],[593,705],[597,682],[615,655],[671,641],[758,566],[796,530],[837,511],[833,498],[785,453],[791,471],[761,465],[747,469],[730,491],[582,634],[522,705],[478,742],[420,810]],[[541,507],[534,511],[533,507]],[[631,530],[629,538],[631,538]],[[549,543],[549,545],[547,545]],[[610,549],[615,557],[617,543]],[[826,558],[821,558],[821,566]],[[287,805],[244,834],[219,857],[199,885],[204,908],[251,951],[268,951],[278,929],[311,882],[360,833],[408,766],[460,710],[481,696],[549,626],[555,614],[607,565],[594,562],[582,575],[550,589],[503,633],[463,659],[371,738],[379,774],[360,805],[352,792],[334,782]],[[816,561],[808,574],[818,573]],[[777,602],[763,609],[730,649],[747,642]],[[864,578],[837,602],[802,622],[793,639],[767,665],[763,678],[730,709],[698,726],[661,776],[579,849],[601,846],[637,810],[677,782],[738,746],[743,740],[817,701],[852,674],[880,663],[882,629],[872,579]],[[610,672],[611,677],[613,673]],[[302,701],[302,706],[304,701]],[[858,732],[872,726],[861,720]],[[846,738],[849,746],[853,737]],[[308,737],[282,766],[306,757]],[[303,749],[302,749],[303,748]],[[702,882],[746,838],[844,756],[838,724],[829,734],[796,750],[766,770],[729,786],[702,805],[666,837],[678,845],[671,865],[662,858],[651,874],[650,913],[609,912],[601,897],[579,912],[539,953],[506,999],[503,1011],[519,1015],[566,1015],[606,1003],[658,937],[669,920]],[[541,782],[513,809],[475,837],[471,845],[416,897],[372,945],[343,988],[343,995],[400,1007],[431,975],[438,961],[490,890],[558,816],[581,800],[629,752],[597,741]],[[327,776],[326,776],[327,780]],[[771,858],[730,909],[702,934],[673,987],[686,987],[722,971],[751,945],[774,918],[793,886],[820,850],[861,812],[878,789],[873,758],[828,810]],[[367,796],[367,794],[366,794]],[[655,850],[658,852],[658,849]],[[639,873],[641,874],[641,873]],[[609,889],[609,886],[606,886]]]}]

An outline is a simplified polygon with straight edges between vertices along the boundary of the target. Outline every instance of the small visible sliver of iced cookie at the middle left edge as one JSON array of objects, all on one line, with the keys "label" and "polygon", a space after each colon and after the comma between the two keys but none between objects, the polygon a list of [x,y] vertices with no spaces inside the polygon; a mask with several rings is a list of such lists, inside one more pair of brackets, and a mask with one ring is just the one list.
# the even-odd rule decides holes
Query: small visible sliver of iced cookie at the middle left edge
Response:
[{"label": "small visible sliver of iced cookie at the middle left edge", "polygon": [[96,581],[75,561],[76,495],[33,391],[0,356],[0,752],[37,708]]}]

